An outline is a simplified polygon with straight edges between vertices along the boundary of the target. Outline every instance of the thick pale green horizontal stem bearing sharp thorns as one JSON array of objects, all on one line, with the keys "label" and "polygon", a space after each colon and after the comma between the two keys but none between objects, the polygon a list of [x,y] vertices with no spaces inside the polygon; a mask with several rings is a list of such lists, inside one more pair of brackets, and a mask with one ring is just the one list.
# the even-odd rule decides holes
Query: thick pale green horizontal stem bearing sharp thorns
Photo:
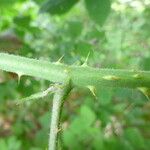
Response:
[{"label": "thick pale green horizontal stem bearing sharp thorns", "polygon": [[69,77],[75,86],[150,88],[150,71],[68,66],[5,53],[0,53],[0,69],[55,83],[64,83]]}]

